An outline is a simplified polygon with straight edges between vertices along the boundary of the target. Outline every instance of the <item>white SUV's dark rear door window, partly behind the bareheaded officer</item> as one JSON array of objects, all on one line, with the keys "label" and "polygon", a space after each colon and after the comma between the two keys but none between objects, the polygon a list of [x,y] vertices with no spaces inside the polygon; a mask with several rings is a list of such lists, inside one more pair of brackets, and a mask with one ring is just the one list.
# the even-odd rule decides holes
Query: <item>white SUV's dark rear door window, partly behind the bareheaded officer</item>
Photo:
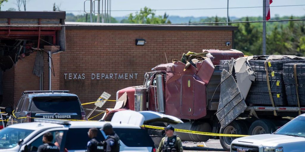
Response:
[{"label": "white SUV's dark rear door window, partly behind the bareheaded officer", "polygon": [[[90,140],[88,131],[90,128],[70,128],[66,136],[65,148],[69,150],[85,150]],[[98,128],[99,129],[99,128]],[[105,138],[99,131],[97,134],[98,141],[104,141]]]}]

